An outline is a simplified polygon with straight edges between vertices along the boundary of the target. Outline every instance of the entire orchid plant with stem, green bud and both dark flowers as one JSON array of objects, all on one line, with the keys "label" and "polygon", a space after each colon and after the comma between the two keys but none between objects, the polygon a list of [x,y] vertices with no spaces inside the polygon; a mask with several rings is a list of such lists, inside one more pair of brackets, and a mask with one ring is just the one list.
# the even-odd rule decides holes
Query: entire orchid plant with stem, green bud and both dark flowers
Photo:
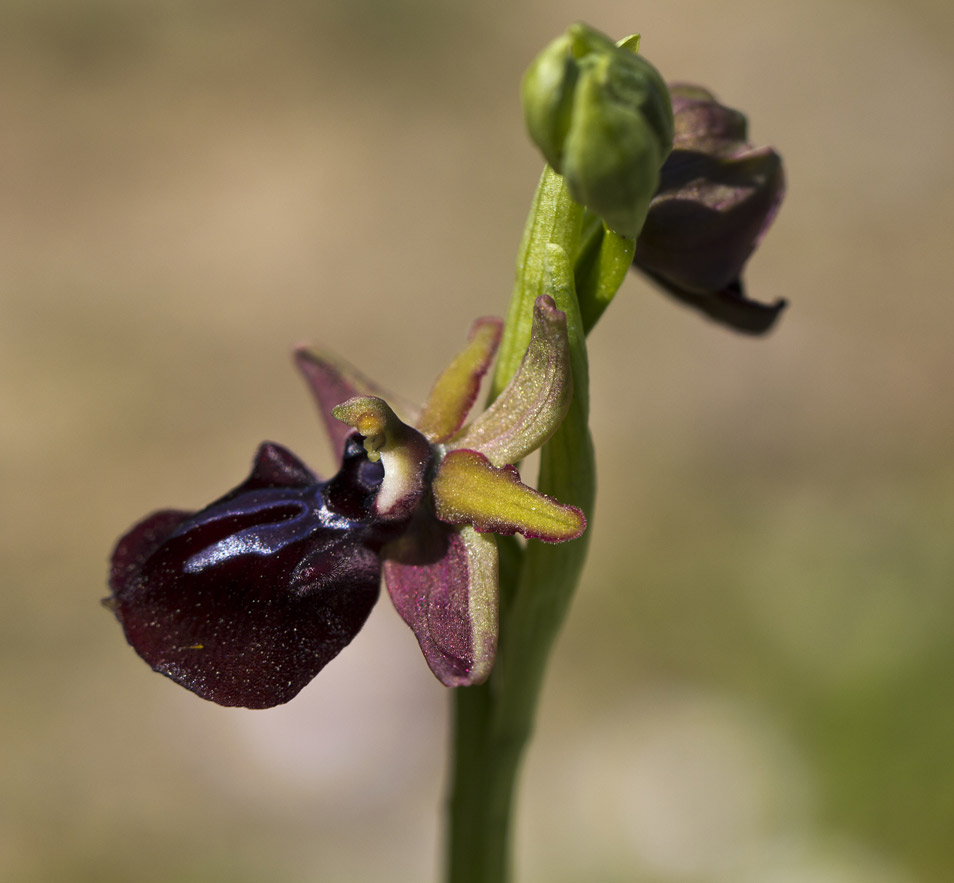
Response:
[{"label": "entire orchid plant with stem, green bud and both dark flowers", "polygon": [[[422,407],[299,348],[337,474],[266,442],[236,488],[153,513],[113,552],[105,603],[136,652],[248,708],[297,695],[360,631],[383,578],[432,672],[467,688],[451,694],[450,883],[511,879],[517,774],[589,534],[543,543],[580,537],[595,503],[587,334],[633,266],[739,330],[767,330],[784,306],[741,281],[784,193],[779,156],[638,50],[637,35],[577,23],[531,63],[524,118],[547,164],[507,321],[473,324]],[[490,404],[468,423],[495,356]],[[546,493],[517,471],[537,449]],[[498,549],[513,534],[527,542]]]}]

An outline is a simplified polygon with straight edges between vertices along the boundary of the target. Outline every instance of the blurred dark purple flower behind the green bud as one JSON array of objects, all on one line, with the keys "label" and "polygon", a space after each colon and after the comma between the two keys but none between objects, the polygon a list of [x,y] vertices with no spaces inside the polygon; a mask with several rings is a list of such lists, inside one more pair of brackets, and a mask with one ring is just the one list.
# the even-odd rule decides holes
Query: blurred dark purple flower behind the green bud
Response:
[{"label": "blurred dark purple flower behind the green bud", "polygon": [[747,140],[743,114],[698,86],[670,86],[675,138],[634,265],[674,297],[739,331],[767,331],[784,301],[749,300],[742,270],[785,193],[781,157]]}]

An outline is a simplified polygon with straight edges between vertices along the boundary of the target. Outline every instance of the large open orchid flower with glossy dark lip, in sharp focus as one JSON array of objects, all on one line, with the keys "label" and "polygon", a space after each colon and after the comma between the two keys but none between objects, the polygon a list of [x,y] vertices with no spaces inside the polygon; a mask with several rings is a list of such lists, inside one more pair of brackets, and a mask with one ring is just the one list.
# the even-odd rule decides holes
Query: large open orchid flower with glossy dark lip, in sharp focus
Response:
[{"label": "large open orchid flower with glossy dark lip, in sharp focus", "polygon": [[566,317],[551,298],[537,298],[510,384],[465,425],[501,328],[474,323],[411,424],[358,372],[299,349],[340,471],[321,481],[266,442],[251,475],[214,503],[129,530],[105,603],[136,652],[220,705],[287,702],[364,625],[383,564],[441,682],[485,680],[497,641],[495,534],[563,542],[586,526],[514,465],[556,431],[573,395]]}]

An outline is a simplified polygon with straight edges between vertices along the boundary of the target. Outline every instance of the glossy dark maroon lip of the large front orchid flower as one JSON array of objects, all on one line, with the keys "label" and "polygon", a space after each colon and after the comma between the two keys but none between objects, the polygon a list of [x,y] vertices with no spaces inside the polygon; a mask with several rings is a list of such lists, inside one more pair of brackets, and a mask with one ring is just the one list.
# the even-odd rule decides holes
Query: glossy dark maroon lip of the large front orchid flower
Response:
[{"label": "glossy dark maroon lip of the large front orchid flower", "polygon": [[404,528],[373,516],[382,475],[354,438],[328,482],[263,444],[216,502],[156,512],[122,537],[106,604],[153,669],[204,699],[287,702],[377,600],[381,546]]}]

